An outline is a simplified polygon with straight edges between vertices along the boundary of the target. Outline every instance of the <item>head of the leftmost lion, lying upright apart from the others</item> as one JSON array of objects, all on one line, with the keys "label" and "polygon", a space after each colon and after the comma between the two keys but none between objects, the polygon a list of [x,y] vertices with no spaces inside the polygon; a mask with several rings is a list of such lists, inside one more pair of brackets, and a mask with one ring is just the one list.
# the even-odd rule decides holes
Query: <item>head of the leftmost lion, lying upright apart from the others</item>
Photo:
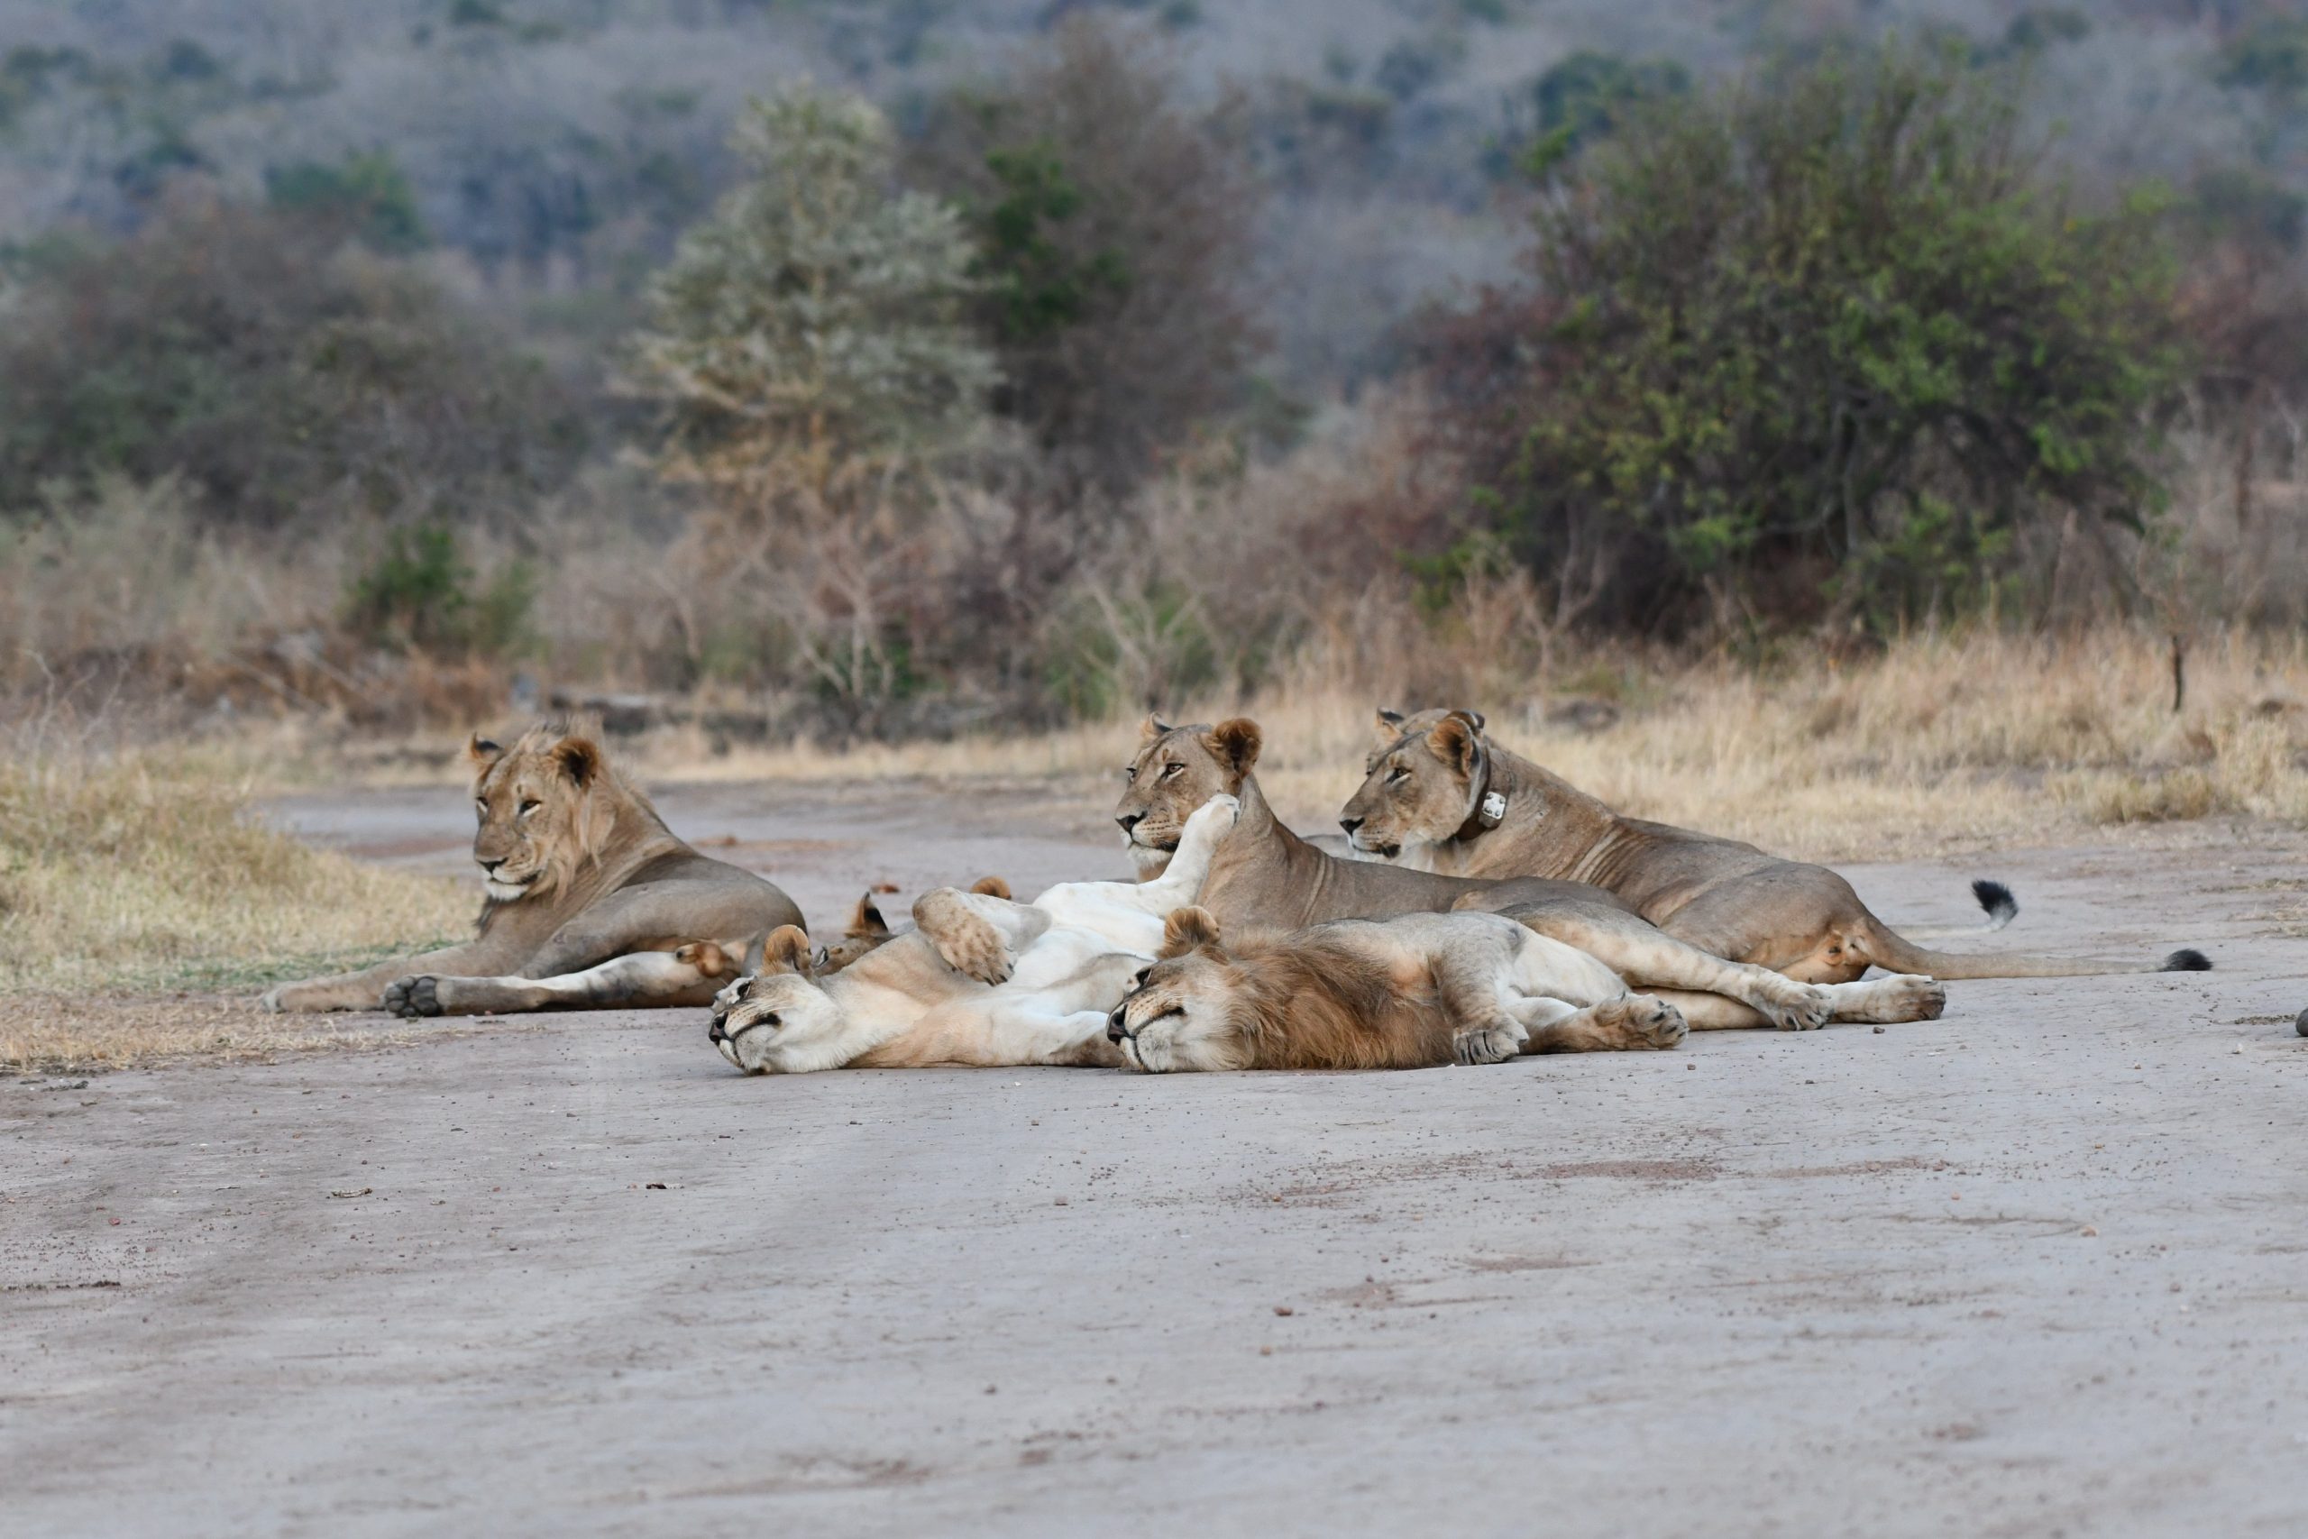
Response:
[{"label": "head of the leftmost lion, lying upright apart from the others", "polygon": [[512,748],[482,736],[473,761],[473,861],[492,902],[554,891],[614,821],[602,752],[591,738],[533,727]]}]

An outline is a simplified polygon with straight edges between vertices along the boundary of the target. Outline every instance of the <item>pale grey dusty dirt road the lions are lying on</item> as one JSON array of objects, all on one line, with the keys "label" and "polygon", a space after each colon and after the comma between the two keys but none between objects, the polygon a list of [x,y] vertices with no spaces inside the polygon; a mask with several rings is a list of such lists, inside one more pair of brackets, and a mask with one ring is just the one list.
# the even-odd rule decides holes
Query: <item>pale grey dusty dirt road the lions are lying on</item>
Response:
[{"label": "pale grey dusty dirt road the lions are lying on", "polygon": [[[1115,868],[1032,791],[665,810],[812,916]],[[323,812],[462,863],[441,791]],[[1858,868],[2220,969],[1883,1034],[741,1080],[565,1015],[0,1082],[7,1532],[2296,1534],[2303,847],[2181,844]]]}]

